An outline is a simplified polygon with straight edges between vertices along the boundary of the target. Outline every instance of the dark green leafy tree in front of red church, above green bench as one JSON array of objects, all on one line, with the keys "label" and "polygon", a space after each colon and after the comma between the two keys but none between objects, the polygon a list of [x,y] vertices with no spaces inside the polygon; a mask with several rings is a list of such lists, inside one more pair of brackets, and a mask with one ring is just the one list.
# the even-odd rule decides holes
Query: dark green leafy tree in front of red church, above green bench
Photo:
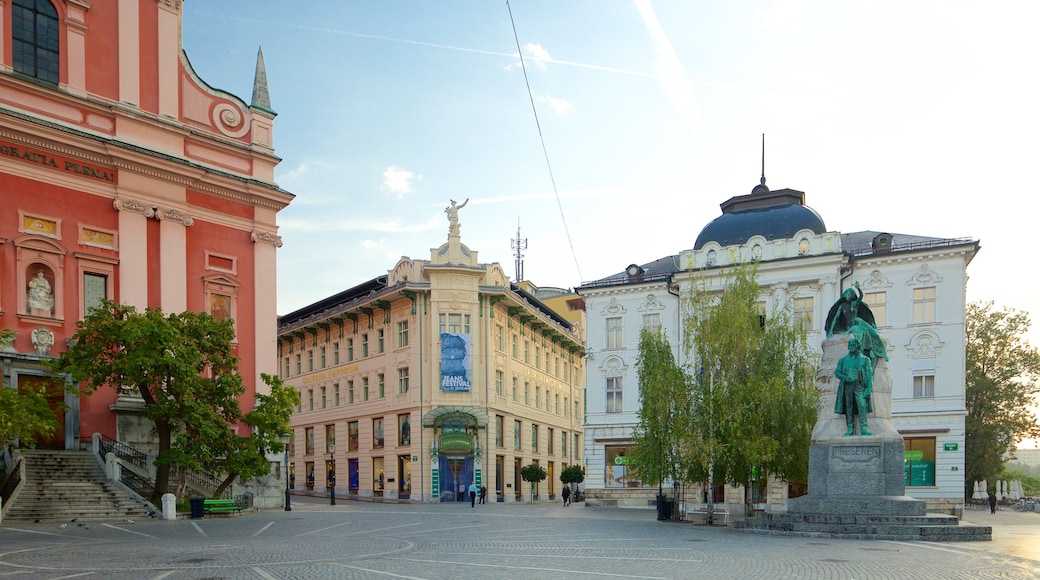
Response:
[{"label": "dark green leafy tree in front of red church, above green bench", "polygon": [[[182,474],[180,495],[186,470],[223,468],[230,477],[223,491],[239,474],[265,471],[258,456],[282,450],[277,438],[288,430],[290,403],[298,401],[298,394],[293,398],[276,383],[243,416],[238,397],[245,389],[233,340],[230,319],[197,312],[166,316],[159,309],[138,313],[106,300],[79,323],[74,344],[52,362],[52,370],[87,392],[110,387],[140,394],[158,440],[153,499],[170,491],[172,465]],[[257,428],[256,440],[238,434],[249,426]]]}]

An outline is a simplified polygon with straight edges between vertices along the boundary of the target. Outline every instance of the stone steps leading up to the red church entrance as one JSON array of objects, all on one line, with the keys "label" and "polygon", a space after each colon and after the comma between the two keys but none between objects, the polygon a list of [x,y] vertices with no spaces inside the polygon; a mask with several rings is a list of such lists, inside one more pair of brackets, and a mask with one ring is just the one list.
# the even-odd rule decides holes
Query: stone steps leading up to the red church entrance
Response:
[{"label": "stone steps leading up to the red church entrance", "polygon": [[88,451],[26,450],[25,483],[5,522],[145,519],[156,510],[105,478]]}]

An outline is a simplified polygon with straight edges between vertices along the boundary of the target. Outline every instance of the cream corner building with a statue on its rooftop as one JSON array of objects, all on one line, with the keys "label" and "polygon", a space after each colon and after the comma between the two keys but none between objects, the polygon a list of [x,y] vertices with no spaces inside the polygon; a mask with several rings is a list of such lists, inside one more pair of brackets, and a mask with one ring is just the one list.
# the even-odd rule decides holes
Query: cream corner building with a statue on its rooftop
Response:
[{"label": "cream corner building with a statue on its rooftop", "polygon": [[295,491],[327,493],[336,474],[338,497],[454,501],[475,481],[489,502],[529,500],[520,468],[537,463],[545,500],[580,463],[580,324],[482,264],[461,241],[458,209],[448,216],[428,260],[402,257],[279,318],[281,376],[303,401]]}]

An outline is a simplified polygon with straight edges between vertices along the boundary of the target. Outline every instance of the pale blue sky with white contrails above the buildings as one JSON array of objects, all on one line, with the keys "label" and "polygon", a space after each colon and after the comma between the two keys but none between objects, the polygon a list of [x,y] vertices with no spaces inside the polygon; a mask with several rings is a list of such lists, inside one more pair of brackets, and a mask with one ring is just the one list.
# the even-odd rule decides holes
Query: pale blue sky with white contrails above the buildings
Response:
[{"label": "pale blue sky with white contrails above the buildings", "polygon": [[688,249],[758,183],[764,134],[766,185],[831,231],[979,240],[968,299],[1030,313],[1040,345],[1040,2],[188,0],[183,19],[196,72],[246,101],[263,49],[295,194],[279,314],[428,259],[450,200],[482,262],[515,275],[526,240],[538,286]]}]

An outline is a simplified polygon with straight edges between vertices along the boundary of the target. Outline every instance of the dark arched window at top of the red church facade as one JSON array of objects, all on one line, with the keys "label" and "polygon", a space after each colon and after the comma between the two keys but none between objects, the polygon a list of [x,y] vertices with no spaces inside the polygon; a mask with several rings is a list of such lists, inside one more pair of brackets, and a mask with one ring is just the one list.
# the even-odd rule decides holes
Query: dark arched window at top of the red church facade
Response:
[{"label": "dark arched window at top of the red church facade", "polygon": [[58,83],[58,14],[48,0],[11,3],[15,72]]}]

